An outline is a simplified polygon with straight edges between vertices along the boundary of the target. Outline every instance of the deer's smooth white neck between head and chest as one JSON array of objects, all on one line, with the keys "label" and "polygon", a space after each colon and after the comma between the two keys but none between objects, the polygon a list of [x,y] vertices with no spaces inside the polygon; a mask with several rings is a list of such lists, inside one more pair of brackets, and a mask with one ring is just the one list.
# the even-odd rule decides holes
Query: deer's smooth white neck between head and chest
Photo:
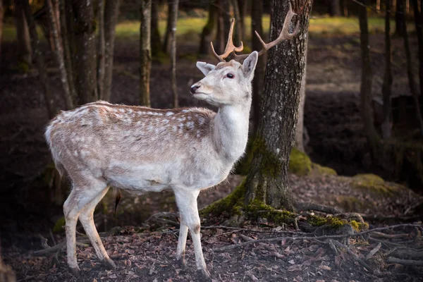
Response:
[{"label": "deer's smooth white neck between head and chest", "polygon": [[212,136],[217,152],[233,164],[245,152],[251,99],[240,105],[220,106],[214,116]]}]

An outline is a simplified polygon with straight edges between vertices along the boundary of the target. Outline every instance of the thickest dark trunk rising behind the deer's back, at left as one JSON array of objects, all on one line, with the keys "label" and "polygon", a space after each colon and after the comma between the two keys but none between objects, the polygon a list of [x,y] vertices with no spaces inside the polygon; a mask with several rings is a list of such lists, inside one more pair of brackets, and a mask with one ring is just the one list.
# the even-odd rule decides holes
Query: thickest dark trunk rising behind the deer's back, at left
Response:
[{"label": "thickest dark trunk rising behind the deer's back, at left", "polygon": [[94,4],[90,0],[73,1],[75,21],[75,89],[81,104],[97,96],[97,56]]}]

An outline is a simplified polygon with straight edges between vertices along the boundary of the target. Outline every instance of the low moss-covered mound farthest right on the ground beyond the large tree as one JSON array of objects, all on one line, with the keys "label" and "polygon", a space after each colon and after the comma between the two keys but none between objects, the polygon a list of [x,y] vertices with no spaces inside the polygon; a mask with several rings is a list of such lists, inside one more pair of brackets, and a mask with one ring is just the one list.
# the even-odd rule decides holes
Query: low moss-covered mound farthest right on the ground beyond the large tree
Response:
[{"label": "low moss-covered mound farthest right on the ground beyond the large tree", "polygon": [[385,182],[383,178],[375,174],[357,174],[357,176],[353,177],[351,185],[358,190],[365,190],[374,195],[388,197],[406,189],[403,185]]}]

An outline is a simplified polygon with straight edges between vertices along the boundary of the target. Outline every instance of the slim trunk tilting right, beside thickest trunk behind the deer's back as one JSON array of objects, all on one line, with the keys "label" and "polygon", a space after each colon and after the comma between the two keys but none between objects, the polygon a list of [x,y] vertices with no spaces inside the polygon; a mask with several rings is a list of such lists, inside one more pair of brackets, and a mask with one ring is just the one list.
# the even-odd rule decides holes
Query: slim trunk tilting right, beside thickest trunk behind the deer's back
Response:
[{"label": "slim trunk tilting right, beside thickest trunk behind the deer's back", "polygon": [[104,97],[110,101],[113,80],[113,56],[116,24],[118,23],[120,0],[106,0],[104,6]]}]

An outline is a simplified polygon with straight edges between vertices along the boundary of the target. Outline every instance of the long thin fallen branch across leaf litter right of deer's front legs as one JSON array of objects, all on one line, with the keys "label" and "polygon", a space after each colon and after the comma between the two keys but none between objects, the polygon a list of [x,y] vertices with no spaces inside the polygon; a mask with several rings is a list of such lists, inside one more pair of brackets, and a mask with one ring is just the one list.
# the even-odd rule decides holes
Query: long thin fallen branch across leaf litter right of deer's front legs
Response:
[{"label": "long thin fallen branch across leaf litter right of deer's front legs", "polygon": [[374,232],[374,231],[383,231],[383,230],[388,230],[388,229],[392,229],[392,228],[399,228],[399,227],[422,228],[421,225],[417,225],[417,224],[398,224],[398,225],[393,225],[393,226],[374,228],[374,229],[370,229],[370,230],[367,230],[367,231],[362,231],[362,232],[354,233],[354,234],[323,235],[323,236],[318,236],[318,237],[312,237],[312,235],[310,235],[310,236],[299,236],[299,237],[276,237],[276,238],[267,238],[267,239],[259,239],[259,240],[244,242],[244,243],[240,243],[238,245],[229,245],[229,246],[225,246],[225,247],[219,247],[217,249],[214,249],[214,251],[215,252],[226,252],[228,250],[233,250],[237,247],[243,247],[245,245],[249,245],[249,244],[252,244],[252,243],[277,242],[277,241],[281,241],[281,240],[326,240],[326,239],[358,237],[358,236],[361,236],[361,235],[364,235],[364,234],[367,234],[367,233],[371,233],[371,232]]}]

